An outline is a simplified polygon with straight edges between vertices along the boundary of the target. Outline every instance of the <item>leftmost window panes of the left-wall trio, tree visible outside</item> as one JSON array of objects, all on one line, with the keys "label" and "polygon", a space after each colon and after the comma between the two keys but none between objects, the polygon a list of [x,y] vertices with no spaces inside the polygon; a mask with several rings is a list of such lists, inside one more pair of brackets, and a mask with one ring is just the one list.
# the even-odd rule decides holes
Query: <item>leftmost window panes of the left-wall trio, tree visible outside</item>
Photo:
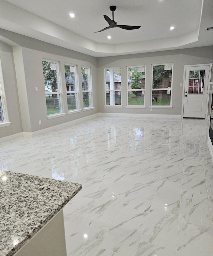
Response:
[{"label": "leftmost window panes of the left-wall trio, tree visible outside", "polygon": [[58,62],[42,61],[47,115],[61,113],[60,83]]}]

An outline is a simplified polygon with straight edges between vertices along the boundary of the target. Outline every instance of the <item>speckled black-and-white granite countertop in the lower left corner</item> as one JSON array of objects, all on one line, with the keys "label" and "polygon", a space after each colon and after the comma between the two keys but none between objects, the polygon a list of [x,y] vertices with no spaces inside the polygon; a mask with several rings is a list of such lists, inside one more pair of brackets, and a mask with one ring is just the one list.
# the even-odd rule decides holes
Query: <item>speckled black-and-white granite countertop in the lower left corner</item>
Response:
[{"label": "speckled black-and-white granite countertop in the lower left corner", "polygon": [[77,183],[0,170],[0,256],[15,254],[81,189]]}]

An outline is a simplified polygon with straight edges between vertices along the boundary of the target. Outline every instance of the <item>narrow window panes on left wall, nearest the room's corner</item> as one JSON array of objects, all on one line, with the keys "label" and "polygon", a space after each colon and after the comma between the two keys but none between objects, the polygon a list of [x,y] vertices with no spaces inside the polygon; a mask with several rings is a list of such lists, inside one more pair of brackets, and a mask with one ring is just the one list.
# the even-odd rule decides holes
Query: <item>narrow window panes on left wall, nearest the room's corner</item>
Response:
[{"label": "narrow window panes on left wall, nearest the room's corner", "polygon": [[92,107],[92,91],[90,81],[90,68],[81,68],[82,91],[84,108]]}]

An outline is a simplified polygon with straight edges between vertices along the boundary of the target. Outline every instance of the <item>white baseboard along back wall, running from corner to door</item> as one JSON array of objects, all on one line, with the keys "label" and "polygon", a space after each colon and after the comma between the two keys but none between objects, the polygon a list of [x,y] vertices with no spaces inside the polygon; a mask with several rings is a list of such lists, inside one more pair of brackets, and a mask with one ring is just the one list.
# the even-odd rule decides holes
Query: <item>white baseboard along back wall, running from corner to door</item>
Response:
[{"label": "white baseboard along back wall, running from corner to door", "polygon": [[143,117],[143,118],[181,118],[181,115],[159,115],[159,114],[129,114],[129,113],[98,113],[105,117]]}]

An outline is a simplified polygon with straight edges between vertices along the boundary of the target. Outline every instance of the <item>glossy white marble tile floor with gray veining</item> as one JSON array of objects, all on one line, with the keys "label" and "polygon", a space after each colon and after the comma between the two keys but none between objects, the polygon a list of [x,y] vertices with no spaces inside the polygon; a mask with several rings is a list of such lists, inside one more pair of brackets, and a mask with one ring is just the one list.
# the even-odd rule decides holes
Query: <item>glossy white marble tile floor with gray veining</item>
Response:
[{"label": "glossy white marble tile floor with gray veining", "polygon": [[83,184],[69,256],[212,256],[209,123],[97,117],[1,144],[0,168]]}]

